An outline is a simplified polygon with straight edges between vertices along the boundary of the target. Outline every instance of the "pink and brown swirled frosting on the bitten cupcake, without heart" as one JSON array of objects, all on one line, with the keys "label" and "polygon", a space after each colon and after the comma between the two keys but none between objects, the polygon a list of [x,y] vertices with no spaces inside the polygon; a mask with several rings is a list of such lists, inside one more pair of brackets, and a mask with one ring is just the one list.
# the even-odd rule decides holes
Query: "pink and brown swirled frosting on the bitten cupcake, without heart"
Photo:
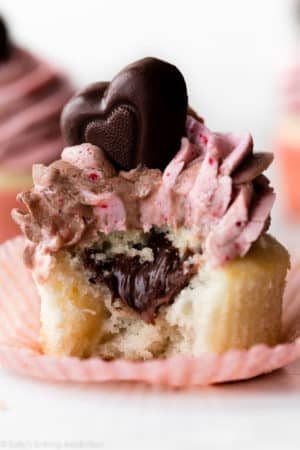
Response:
[{"label": "pink and brown swirled frosting on the bitten cupcake, without heart", "polygon": [[61,160],[33,167],[34,187],[13,216],[27,237],[25,260],[47,277],[59,249],[89,245],[97,232],[184,226],[213,265],[243,256],[268,228],[274,193],[262,172],[273,157],[253,153],[249,134],[212,133],[187,117],[187,137],[164,172],[116,172],[90,144],[64,149]]}]

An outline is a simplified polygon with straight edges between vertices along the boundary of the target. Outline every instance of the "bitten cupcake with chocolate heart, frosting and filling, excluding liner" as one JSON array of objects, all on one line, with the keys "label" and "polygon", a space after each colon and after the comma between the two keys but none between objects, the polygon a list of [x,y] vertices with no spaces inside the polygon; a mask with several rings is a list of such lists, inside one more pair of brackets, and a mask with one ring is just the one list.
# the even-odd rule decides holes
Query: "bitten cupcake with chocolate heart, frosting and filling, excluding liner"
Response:
[{"label": "bitten cupcake with chocolate heart, frosting and filling, excluding liner", "polygon": [[289,256],[268,233],[270,153],[188,109],[155,58],[73,97],[61,158],[33,166],[14,220],[53,356],[145,360],[281,339]]}]

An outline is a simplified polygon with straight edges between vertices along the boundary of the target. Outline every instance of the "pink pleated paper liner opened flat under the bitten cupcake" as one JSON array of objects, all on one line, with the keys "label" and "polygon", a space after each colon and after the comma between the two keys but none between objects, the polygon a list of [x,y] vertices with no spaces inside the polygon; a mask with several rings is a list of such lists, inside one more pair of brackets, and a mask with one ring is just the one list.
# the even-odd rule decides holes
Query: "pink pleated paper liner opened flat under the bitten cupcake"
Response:
[{"label": "pink pleated paper liner opened flat under the bitten cupcake", "polygon": [[285,341],[255,345],[222,355],[130,362],[100,358],[54,358],[39,342],[39,298],[22,262],[23,239],[0,246],[0,364],[20,374],[50,381],[140,381],[193,386],[243,380],[284,367],[300,357],[300,264],[290,273],[283,306]]}]

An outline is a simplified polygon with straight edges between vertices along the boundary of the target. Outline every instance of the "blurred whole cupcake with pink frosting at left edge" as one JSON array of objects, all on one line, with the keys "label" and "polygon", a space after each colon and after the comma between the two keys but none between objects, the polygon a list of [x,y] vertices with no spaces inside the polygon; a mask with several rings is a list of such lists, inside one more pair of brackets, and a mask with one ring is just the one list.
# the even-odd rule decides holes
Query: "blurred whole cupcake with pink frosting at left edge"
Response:
[{"label": "blurred whole cupcake with pink frosting at left edge", "polygon": [[32,164],[59,156],[59,117],[72,91],[61,72],[11,42],[0,18],[0,241],[19,231],[10,211],[32,184]]}]

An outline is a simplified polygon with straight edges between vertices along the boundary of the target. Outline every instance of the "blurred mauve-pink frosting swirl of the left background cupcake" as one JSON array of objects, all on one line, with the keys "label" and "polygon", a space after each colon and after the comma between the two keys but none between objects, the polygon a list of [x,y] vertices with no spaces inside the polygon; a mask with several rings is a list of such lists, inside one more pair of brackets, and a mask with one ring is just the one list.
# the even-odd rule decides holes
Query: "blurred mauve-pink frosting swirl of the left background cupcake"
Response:
[{"label": "blurred mauve-pink frosting swirl of the left background cupcake", "polygon": [[63,145],[59,118],[73,93],[55,68],[15,47],[0,63],[0,167],[49,163]]}]

